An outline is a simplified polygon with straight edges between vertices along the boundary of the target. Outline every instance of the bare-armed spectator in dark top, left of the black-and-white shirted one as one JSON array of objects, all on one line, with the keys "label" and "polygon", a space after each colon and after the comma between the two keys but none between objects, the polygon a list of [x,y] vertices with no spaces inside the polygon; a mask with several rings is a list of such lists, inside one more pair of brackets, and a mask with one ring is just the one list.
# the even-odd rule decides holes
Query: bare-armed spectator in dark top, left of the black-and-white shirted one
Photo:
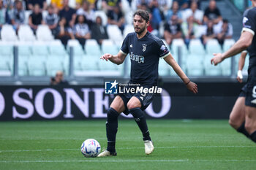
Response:
[{"label": "bare-armed spectator in dark top, left of the black-and-white shirted one", "polygon": [[58,26],[57,39],[60,39],[65,48],[67,48],[67,41],[69,39],[75,39],[72,29],[69,27],[66,18],[61,18]]}]

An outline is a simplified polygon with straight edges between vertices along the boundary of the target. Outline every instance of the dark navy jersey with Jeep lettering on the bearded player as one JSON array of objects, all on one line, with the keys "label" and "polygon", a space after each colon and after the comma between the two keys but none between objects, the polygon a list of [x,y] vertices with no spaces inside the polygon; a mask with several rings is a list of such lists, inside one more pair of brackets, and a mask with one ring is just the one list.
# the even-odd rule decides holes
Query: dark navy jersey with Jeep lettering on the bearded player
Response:
[{"label": "dark navy jersey with Jeep lettering on the bearded player", "polygon": [[165,58],[170,52],[157,36],[147,32],[143,38],[138,39],[134,32],[124,39],[121,53],[129,53],[132,82],[154,83],[158,79],[159,58]]}]

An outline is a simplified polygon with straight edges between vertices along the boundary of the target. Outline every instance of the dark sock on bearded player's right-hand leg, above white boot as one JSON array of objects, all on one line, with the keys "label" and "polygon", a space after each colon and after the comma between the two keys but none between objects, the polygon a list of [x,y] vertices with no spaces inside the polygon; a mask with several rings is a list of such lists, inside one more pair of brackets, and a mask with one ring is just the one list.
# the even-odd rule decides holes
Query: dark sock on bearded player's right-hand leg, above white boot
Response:
[{"label": "dark sock on bearded player's right-hand leg, above white boot", "polygon": [[140,131],[143,134],[143,140],[151,140],[149,136],[148,125],[146,123],[146,117],[143,111],[139,107],[136,107],[133,109],[129,109],[129,112],[135,118],[135,122],[138,124]]}]

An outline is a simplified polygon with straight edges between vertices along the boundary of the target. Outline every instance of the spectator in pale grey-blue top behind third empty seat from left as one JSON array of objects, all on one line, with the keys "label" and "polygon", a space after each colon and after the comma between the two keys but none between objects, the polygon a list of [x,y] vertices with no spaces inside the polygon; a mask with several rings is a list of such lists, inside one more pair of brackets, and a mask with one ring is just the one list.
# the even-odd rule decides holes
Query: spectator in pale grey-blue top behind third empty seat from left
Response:
[{"label": "spectator in pale grey-blue top behind third empty seat from left", "polygon": [[50,5],[48,7],[48,14],[44,18],[44,22],[46,25],[48,25],[54,37],[56,37],[58,34],[58,21],[59,17],[56,13],[54,13],[54,7]]}]

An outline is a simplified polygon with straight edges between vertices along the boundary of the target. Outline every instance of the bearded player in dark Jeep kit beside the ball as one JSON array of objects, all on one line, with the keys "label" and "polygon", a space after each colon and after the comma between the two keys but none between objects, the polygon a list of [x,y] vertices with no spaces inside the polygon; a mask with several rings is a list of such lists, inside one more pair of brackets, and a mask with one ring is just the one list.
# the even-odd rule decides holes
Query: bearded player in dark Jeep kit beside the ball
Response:
[{"label": "bearded player in dark Jeep kit beside the ball", "polygon": [[[143,88],[150,88],[157,85],[159,58],[164,58],[173,67],[178,76],[181,77],[187,88],[193,93],[197,93],[197,85],[191,82],[184,74],[164,43],[147,31],[149,24],[148,12],[139,9],[133,17],[135,32],[127,35],[117,55],[104,54],[101,59],[121,64],[129,53],[132,64],[129,83],[140,84],[140,87]],[[108,109],[106,123],[108,147],[98,157],[116,155],[118,115],[121,112],[126,115],[132,114],[143,134],[145,153],[148,155],[153,152],[154,145],[149,136],[146,117],[143,114],[143,110],[148,107],[153,98],[154,95],[152,93],[121,93],[114,98],[110,109]]]}]

